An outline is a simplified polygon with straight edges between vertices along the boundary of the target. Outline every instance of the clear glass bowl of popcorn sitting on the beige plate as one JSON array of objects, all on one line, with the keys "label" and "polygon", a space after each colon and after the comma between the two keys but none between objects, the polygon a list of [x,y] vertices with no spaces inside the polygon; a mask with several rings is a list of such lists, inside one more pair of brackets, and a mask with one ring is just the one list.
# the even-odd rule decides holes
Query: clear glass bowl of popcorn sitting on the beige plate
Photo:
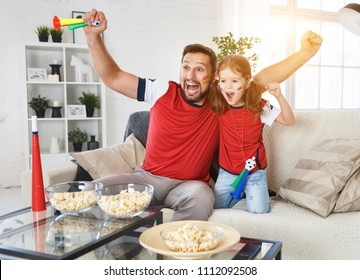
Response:
[{"label": "clear glass bowl of popcorn sitting on the beige plate", "polygon": [[185,223],[160,231],[166,246],[175,252],[198,253],[215,249],[224,235],[224,228],[207,223]]}]

